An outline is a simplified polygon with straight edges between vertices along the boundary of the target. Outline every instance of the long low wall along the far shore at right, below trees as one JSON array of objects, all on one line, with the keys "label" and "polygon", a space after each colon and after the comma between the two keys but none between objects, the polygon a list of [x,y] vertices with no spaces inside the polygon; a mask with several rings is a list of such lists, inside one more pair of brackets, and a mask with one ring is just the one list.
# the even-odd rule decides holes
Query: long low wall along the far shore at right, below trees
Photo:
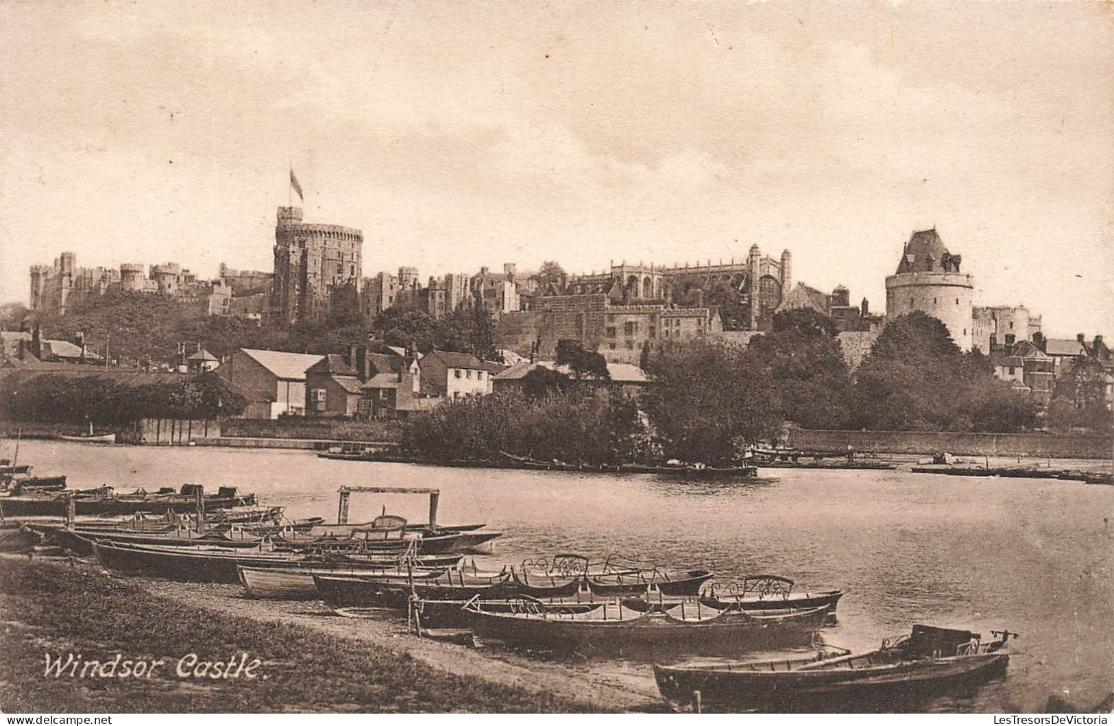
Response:
[{"label": "long low wall along the far shore at right, below trees", "polygon": [[791,429],[789,445],[805,451],[856,451],[987,457],[1107,459],[1111,436],[1063,433],[960,433],[954,431],[821,431]]}]

